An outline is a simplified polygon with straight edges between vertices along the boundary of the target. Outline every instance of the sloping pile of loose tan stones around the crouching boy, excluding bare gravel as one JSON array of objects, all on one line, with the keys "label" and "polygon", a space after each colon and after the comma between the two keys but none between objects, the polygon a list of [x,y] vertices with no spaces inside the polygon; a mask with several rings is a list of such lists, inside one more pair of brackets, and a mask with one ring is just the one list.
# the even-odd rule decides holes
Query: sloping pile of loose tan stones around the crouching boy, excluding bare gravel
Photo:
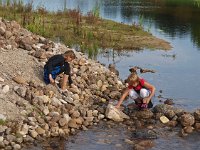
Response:
[{"label": "sloping pile of loose tan stones around the crouching boy, excluding bare gravel", "polygon": [[[39,66],[43,66],[50,56],[68,50],[62,44],[21,28],[15,21],[3,19],[0,19],[0,45],[4,53],[25,50]],[[54,86],[44,85],[42,81],[24,78],[20,73],[15,77],[2,74],[0,98],[6,101],[14,95],[16,99],[11,102],[21,112],[12,121],[6,119],[9,118],[7,113],[0,112],[3,121],[0,125],[0,148],[21,149],[22,143],[40,137],[66,136],[77,129],[87,130],[88,126],[104,119],[104,103],[118,99],[123,84],[102,64],[78,52],[76,56],[72,64],[73,84],[65,93],[60,93]]]}]

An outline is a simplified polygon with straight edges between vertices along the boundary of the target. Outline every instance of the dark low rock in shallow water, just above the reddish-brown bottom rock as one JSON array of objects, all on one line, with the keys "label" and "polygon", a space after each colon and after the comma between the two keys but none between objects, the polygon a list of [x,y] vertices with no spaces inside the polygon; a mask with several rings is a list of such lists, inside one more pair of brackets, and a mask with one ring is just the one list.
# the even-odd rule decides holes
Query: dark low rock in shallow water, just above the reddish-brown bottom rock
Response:
[{"label": "dark low rock in shallow water, just above the reddish-brown bottom rock", "polygon": [[132,138],[134,139],[157,139],[157,134],[153,130],[142,129],[136,130],[132,133]]}]

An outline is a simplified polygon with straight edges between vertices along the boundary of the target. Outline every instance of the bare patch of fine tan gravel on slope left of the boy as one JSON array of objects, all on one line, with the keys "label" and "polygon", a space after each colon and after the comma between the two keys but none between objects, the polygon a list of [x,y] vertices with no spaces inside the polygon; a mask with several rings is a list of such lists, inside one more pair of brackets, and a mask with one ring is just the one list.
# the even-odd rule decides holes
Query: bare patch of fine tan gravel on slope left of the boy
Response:
[{"label": "bare patch of fine tan gravel on slope left of the boy", "polygon": [[20,85],[12,78],[21,75],[27,81],[34,80],[43,83],[42,68],[34,57],[28,55],[28,51],[17,48],[10,50],[0,48],[0,53],[0,77],[5,80],[0,84],[9,85],[9,92],[0,96],[0,113],[6,115],[7,119],[15,119],[23,111],[15,104],[16,101],[25,100],[13,91],[15,86]]}]

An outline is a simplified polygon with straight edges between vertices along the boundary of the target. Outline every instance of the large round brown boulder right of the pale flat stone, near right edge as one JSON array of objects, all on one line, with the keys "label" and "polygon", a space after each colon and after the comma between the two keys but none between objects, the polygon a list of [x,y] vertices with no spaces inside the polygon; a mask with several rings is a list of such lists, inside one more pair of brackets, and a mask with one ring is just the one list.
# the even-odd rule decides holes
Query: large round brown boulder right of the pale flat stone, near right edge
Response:
[{"label": "large round brown boulder right of the pale flat stone, near right edge", "polygon": [[194,116],[191,114],[183,114],[180,117],[180,122],[182,126],[192,126],[195,123]]}]

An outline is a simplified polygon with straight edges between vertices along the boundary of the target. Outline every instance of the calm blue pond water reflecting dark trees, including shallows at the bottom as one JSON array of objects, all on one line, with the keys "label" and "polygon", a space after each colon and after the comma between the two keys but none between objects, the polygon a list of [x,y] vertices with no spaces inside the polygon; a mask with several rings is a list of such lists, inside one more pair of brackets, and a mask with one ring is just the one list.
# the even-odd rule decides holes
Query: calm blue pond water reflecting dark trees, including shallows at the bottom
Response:
[{"label": "calm blue pond water reflecting dark trees, including shallows at the bottom", "polygon": [[[24,2],[29,1],[24,0]],[[172,98],[178,107],[188,111],[200,108],[200,8],[198,8],[198,1],[34,0],[33,5],[35,8],[43,6],[50,11],[79,8],[83,14],[98,6],[100,16],[104,19],[126,24],[141,24],[154,36],[170,42],[173,48],[170,51],[107,49],[106,53],[100,53],[96,59],[106,65],[114,63],[122,79],[128,76],[128,69],[131,66],[156,70],[155,74],[141,74],[157,88],[155,103],[158,103],[157,96],[160,94],[159,90],[162,90],[162,96]],[[113,133],[111,130],[110,132]],[[121,130],[120,133],[125,132]],[[95,138],[96,134],[98,134],[97,131],[93,131],[92,134],[90,131],[81,133],[74,138],[81,140],[85,137],[84,141],[78,145],[67,142],[71,146],[69,149],[81,149],[80,144],[83,143],[91,146],[90,149],[112,149],[105,145],[99,147],[92,145],[91,139]],[[88,138],[90,140],[86,140]],[[173,138],[173,140],[171,137],[156,140],[157,146],[153,149],[199,148],[200,143],[195,140],[200,138],[199,135],[191,136],[186,140],[174,136]],[[171,147],[168,147],[169,144]]]}]

